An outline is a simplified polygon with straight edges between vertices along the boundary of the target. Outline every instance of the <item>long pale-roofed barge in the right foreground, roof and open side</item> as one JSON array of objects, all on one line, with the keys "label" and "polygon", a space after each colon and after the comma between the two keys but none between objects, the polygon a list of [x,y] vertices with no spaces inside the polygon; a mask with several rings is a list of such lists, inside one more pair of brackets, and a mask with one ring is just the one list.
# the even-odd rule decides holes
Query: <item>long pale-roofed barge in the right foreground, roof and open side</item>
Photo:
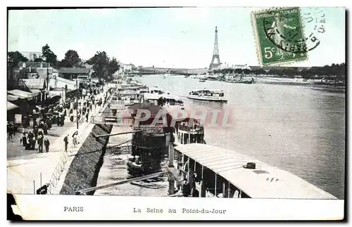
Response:
[{"label": "long pale-roofed barge in the right foreground, roof and open side", "polygon": [[171,146],[170,154],[175,175],[182,180],[175,181],[174,189],[184,196],[337,199],[288,171],[233,150],[190,143]]}]

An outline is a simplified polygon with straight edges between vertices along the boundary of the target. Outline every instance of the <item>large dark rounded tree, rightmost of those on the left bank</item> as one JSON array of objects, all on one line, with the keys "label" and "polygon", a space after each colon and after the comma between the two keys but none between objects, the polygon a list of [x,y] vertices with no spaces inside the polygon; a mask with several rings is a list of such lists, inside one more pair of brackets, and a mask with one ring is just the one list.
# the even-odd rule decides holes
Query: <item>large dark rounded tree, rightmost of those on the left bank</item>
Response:
[{"label": "large dark rounded tree, rightmost of those on the left bank", "polygon": [[93,65],[93,77],[98,77],[99,79],[108,78],[109,58],[105,51],[97,51],[92,58],[87,60],[87,64]]}]

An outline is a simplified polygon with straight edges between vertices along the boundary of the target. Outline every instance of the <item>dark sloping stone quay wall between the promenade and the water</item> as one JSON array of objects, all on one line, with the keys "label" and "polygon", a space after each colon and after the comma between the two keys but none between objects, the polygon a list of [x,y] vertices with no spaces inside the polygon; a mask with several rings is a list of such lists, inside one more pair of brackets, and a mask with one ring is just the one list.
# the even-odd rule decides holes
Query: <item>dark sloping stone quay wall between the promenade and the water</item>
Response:
[{"label": "dark sloping stone quay wall between the promenade and the water", "polygon": [[[110,134],[112,128],[112,125],[95,124],[70,164],[60,191],[61,195],[74,195],[76,190],[96,186],[108,137],[95,138],[94,135]],[[94,195],[94,191],[87,195]]]}]

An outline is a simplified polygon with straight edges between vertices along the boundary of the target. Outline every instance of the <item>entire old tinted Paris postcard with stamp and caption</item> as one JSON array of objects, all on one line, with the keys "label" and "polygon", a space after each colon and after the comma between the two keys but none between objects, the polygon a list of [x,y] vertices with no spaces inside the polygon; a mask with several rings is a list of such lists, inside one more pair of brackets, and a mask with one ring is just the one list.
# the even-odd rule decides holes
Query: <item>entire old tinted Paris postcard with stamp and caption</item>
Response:
[{"label": "entire old tinted Paris postcard with stamp and caption", "polygon": [[8,8],[8,220],[343,220],[345,18]]}]

